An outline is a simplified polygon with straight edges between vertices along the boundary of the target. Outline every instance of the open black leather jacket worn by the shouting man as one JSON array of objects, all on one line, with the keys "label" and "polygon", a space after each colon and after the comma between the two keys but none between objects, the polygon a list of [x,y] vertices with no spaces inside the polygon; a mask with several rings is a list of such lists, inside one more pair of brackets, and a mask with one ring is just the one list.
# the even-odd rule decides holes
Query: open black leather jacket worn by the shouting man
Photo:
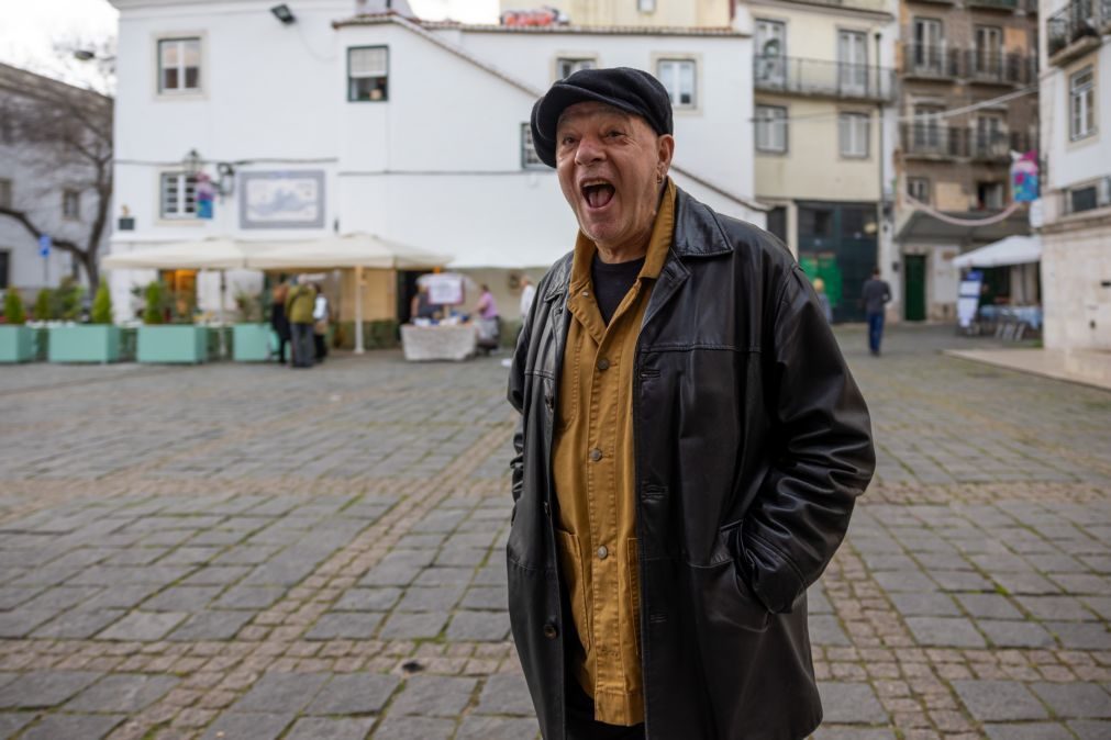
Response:
[{"label": "open black leather jacket worn by the shouting man", "polygon": [[[551,453],[570,271],[540,283],[509,381],[510,620],[548,740],[565,737]],[[821,722],[807,587],[875,462],[818,298],[778,240],[679,191],[632,372],[647,736],[803,738]]]}]

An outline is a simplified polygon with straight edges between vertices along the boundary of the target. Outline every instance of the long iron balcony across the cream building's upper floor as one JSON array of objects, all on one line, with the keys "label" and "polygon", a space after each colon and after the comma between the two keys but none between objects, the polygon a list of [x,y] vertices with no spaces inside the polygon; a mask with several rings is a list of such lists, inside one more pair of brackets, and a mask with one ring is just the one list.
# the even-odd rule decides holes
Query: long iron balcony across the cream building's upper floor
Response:
[{"label": "long iron balcony across the cream building's upper floor", "polygon": [[894,100],[894,72],[868,64],[763,55],[753,60],[752,77],[755,89],[763,92],[873,102]]}]

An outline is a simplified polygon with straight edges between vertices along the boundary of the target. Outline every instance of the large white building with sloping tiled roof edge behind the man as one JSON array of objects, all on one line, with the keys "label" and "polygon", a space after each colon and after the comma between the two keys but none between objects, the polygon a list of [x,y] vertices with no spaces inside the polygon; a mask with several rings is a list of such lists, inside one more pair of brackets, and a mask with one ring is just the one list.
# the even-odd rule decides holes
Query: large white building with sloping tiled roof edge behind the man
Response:
[{"label": "large white building with sloping tiled roof edge behind the man", "polygon": [[[113,251],[368,232],[454,255],[451,266],[489,283],[516,317],[516,278],[542,273],[575,233],[527,122],[551,82],[584,64],[665,78],[675,181],[763,224],[751,200],[751,43],[730,28],[460,26],[353,16],[350,0],[292,4],[289,23],[259,0],[112,4],[117,204],[134,217]],[[190,152],[223,192],[210,219],[198,217]],[[113,276],[122,303],[137,278],[150,275]],[[213,300],[216,278],[201,283]],[[397,315],[398,284],[371,278],[368,316]]]}]

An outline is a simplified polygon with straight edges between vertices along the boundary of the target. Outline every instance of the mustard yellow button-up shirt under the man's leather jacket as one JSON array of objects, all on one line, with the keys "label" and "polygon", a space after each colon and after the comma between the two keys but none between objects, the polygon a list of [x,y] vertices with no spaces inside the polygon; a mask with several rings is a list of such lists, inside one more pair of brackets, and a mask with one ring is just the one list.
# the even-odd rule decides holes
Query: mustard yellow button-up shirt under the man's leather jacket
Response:
[{"label": "mustard yellow button-up shirt under the man's leather jacket", "polygon": [[594,700],[594,719],[609,724],[644,721],[633,363],[648,298],[671,249],[674,202],[675,186],[668,180],[644,264],[609,325],[590,277],[598,247],[581,232],[571,265],[552,460],[556,538],[579,633],[570,669]]}]

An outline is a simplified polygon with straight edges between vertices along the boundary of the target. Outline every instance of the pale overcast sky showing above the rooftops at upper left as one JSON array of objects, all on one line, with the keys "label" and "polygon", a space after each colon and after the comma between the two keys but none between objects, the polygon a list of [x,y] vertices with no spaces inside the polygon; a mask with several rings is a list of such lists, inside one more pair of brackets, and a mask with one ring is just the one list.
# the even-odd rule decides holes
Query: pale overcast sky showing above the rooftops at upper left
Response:
[{"label": "pale overcast sky showing above the rooftops at upper left", "polygon": [[[274,0],[274,4],[279,1]],[[296,0],[287,1],[296,11]],[[414,13],[430,20],[450,17],[472,23],[491,22],[498,16],[498,0],[409,0],[409,4]],[[354,0],[351,8],[353,11]],[[0,62],[80,82],[86,68],[59,59],[53,41],[114,36],[118,16],[108,0],[0,0]]]}]

